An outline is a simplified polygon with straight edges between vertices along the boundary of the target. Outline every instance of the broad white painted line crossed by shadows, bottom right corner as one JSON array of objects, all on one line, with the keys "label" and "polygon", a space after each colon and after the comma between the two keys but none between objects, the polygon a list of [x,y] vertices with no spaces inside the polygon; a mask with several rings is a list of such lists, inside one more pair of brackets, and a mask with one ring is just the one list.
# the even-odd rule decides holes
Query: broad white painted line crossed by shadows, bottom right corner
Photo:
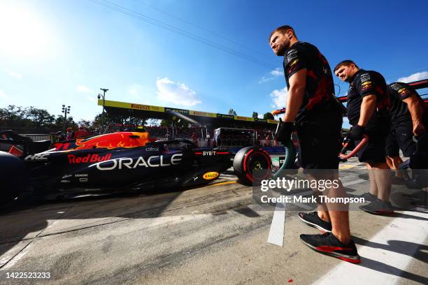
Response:
[{"label": "broad white painted line crossed by shadows, bottom right corner", "polygon": [[[428,235],[428,213],[402,212],[415,219],[397,217],[369,240],[357,246],[360,265],[341,262],[314,284],[397,284],[405,283],[406,268],[415,261],[418,247]],[[418,219],[422,217],[423,219]],[[411,222],[409,222],[411,221]],[[370,246],[370,244],[372,244]],[[405,252],[403,254],[399,252]],[[401,277],[403,276],[404,277]],[[407,274],[411,276],[412,274]],[[352,278],[353,277],[353,278]],[[424,279],[426,277],[420,277]],[[407,280],[410,281],[410,280]]]}]

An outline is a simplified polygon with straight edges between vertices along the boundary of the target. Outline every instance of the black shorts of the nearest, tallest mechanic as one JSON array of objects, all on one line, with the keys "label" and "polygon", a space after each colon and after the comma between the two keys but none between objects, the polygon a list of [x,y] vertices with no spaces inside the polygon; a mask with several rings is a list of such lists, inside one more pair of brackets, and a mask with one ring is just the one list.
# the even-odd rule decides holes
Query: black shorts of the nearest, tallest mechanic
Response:
[{"label": "black shorts of the nearest, tallest mechanic", "polygon": [[299,166],[304,169],[338,169],[341,127],[341,117],[323,122],[322,125],[297,124]]}]

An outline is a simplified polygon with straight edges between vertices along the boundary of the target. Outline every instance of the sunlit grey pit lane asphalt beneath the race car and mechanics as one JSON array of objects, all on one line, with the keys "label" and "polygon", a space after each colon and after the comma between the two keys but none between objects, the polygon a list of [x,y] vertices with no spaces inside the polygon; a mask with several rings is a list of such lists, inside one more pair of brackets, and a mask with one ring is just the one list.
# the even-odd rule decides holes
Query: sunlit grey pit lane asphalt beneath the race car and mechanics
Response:
[{"label": "sunlit grey pit lane asphalt beneath the race car and mechanics", "polygon": [[[355,161],[342,166],[348,182],[359,178],[353,172],[359,167]],[[349,188],[362,194],[368,185]],[[273,211],[253,203],[252,189],[236,183],[231,173],[185,191],[29,205],[0,215],[0,283],[311,284],[332,275],[343,261],[300,242],[299,234],[318,231],[301,223],[297,210],[308,208],[286,212],[284,247],[277,247],[266,242]],[[427,220],[424,212],[394,218],[351,211],[359,250],[385,247],[380,254],[410,258],[396,266],[366,258],[352,270],[369,270],[362,272],[397,284],[426,284]],[[370,241],[385,229],[399,231],[401,222],[411,227],[409,235],[422,233],[422,240]],[[51,278],[6,279],[7,272],[50,272]],[[358,280],[350,277],[347,283]]]}]

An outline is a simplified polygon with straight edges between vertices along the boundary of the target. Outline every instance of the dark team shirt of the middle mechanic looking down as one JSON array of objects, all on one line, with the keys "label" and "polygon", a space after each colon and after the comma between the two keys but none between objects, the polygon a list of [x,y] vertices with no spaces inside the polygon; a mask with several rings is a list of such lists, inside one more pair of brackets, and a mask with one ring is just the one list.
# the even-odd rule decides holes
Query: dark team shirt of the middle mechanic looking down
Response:
[{"label": "dark team shirt of the middle mechanic looking down", "polygon": [[387,94],[385,78],[376,71],[359,69],[350,82],[347,94],[347,116],[352,126],[358,124],[362,98],[376,95],[376,110],[373,112],[366,130],[389,130],[390,98]]}]

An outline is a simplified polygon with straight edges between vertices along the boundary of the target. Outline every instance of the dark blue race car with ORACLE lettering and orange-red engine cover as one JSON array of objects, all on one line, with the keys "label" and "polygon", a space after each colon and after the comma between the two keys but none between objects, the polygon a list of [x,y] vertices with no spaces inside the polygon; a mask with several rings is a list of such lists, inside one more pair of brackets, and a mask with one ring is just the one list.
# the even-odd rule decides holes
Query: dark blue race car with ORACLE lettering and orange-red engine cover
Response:
[{"label": "dark blue race car with ORACLE lettering and orange-red engine cover", "polygon": [[[231,166],[224,149],[199,149],[190,140],[150,142],[147,132],[107,133],[51,143],[0,132],[1,202],[31,191],[48,199],[117,191],[207,184]],[[17,147],[17,146],[21,147]]]}]

